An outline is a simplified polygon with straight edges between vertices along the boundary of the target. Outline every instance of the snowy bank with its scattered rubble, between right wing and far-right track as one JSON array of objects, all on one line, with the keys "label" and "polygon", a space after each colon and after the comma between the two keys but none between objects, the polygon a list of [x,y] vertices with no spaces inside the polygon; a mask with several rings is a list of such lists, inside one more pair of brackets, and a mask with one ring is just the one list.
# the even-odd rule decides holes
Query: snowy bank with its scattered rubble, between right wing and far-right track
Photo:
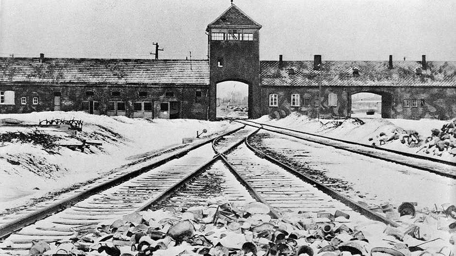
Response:
[{"label": "snowy bank with its scattered rubble, between right wing and far-right track", "polygon": [[[452,153],[456,147],[456,139],[447,135],[448,130],[451,132],[451,129],[446,128],[445,132],[441,131],[444,125],[454,123],[454,120],[363,118],[318,121],[293,112],[279,120],[263,116],[256,121],[386,149],[456,161],[456,154]],[[436,132],[440,134],[436,135]],[[442,150],[438,148],[440,145],[443,145]],[[456,153],[456,151],[453,152]]]}]

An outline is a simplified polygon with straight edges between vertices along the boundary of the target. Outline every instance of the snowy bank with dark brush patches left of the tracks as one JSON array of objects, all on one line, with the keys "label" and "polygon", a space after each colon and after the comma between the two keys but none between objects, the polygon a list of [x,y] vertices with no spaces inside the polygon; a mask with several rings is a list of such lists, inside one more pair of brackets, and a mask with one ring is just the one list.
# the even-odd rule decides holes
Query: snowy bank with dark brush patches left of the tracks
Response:
[{"label": "snowy bank with dark brush patches left of the tracks", "polygon": [[[202,120],[146,120],[107,117],[83,112],[2,114],[0,120],[82,120],[82,132],[69,135],[56,128],[17,127],[0,123],[0,211],[22,205],[32,197],[102,177],[113,169],[140,161],[167,148],[182,145],[207,129],[211,136],[233,128],[228,122]],[[98,142],[81,148],[83,140]],[[59,146],[60,145],[60,146]]]}]

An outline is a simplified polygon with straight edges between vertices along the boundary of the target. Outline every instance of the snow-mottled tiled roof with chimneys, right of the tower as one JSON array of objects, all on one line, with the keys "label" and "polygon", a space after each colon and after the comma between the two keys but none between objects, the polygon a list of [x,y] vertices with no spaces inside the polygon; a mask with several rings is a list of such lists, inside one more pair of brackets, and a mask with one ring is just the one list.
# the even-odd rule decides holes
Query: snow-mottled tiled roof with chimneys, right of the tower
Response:
[{"label": "snow-mottled tiled roof with chimneys, right of the tower", "polygon": [[[417,74],[421,61],[322,61],[321,71],[313,61],[260,61],[262,86],[443,86],[456,87],[456,61],[426,61],[427,70]],[[293,69],[293,71],[291,71]],[[358,74],[353,70],[358,69]],[[294,72],[294,74],[293,74]]]}]

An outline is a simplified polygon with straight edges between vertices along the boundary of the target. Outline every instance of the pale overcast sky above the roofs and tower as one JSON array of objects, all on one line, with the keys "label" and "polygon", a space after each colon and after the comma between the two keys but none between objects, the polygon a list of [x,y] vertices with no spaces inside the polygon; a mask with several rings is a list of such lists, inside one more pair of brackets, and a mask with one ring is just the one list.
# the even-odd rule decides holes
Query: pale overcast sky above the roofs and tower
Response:
[{"label": "pale overcast sky above the roofs and tower", "polygon": [[[0,56],[206,59],[229,0],[0,0]],[[234,0],[260,23],[260,59],[456,60],[456,0]]]}]

